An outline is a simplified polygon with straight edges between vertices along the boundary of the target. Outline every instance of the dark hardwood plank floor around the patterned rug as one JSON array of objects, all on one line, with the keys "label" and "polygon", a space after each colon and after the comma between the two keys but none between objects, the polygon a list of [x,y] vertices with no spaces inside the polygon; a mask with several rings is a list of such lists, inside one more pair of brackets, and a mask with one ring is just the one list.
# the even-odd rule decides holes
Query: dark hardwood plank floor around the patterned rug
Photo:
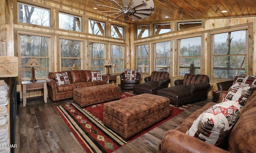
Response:
[{"label": "dark hardwood plank floor around the patterned rug", "polygon": [[[124,91],[122,91],[124,92]],[[168,129],[174,129],[192,112],[201,108],[207,101],[193,103],[193,107],[176,115],[162,125],[124,145],[114,153],[157,153],[158,145]],[[72,103],[73,99],[53,103],[50,98],[44,103],[43,97],[27,99],[26,107],[22,101],[18,105],[18,148],[20,153],[84,153],[68,126],[54,108]]]}]

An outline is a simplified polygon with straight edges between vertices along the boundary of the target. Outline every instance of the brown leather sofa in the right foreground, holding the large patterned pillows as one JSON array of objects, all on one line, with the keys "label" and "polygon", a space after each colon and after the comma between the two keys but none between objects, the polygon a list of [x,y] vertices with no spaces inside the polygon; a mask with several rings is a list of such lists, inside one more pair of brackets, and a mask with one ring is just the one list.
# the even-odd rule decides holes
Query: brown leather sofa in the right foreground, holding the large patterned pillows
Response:
[{"label": "brown leather sofa in the right foreground, holding the large patterned pillows", "polygon": [[[220,101],[222,101],[226,93],[227,91],[221,91]],[[185,134],[193,121],[202,112],[215,104],[214,102],[207,103],[201,109],[192,113],[192,115],[186,118],[178,127],[168,130],[159,145],[158,153],[256,153],[255,91],[249,96],[240,111],[240,118],[235,123],[230,133],[225,137],[225,141],[220,147],[216,147]]]}]

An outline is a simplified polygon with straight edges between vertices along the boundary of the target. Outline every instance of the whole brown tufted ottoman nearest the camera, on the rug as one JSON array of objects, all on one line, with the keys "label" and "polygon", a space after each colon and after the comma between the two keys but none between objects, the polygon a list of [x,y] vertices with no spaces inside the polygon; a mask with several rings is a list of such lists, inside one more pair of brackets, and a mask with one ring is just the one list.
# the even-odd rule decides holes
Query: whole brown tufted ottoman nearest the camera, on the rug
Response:
[{"label": "whole brown tufted ottoman nearest the camera, on the rug", "polygon": [[143,93],[104,103],[103,123],[129,140],[132,135],[170,115],[170,99]]}]

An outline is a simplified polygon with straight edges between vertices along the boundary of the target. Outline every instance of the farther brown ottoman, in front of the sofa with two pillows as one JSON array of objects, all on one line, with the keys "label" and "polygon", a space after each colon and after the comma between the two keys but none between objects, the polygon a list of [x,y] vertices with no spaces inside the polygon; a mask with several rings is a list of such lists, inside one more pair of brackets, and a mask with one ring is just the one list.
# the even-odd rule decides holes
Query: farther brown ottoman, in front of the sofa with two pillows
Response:
[{"label": "farther brown ottoman, in front of the sofa with two pillows", "polygon": [[80,87],[74,89],[73,94],[73,100],[80,107],[84,107],[120,98],[120,88],[111,84]]}]

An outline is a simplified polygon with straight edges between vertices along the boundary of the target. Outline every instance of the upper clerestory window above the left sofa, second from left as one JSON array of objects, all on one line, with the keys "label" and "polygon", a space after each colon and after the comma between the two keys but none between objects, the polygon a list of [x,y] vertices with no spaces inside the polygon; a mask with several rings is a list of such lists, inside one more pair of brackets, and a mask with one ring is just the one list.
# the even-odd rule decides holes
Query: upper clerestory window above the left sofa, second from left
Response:
[{"label": "upper clerestory window above the left sofa, second from left", "polygon": [[81,17],[59,13],[59,28],[78,32],[81,31]]}]

